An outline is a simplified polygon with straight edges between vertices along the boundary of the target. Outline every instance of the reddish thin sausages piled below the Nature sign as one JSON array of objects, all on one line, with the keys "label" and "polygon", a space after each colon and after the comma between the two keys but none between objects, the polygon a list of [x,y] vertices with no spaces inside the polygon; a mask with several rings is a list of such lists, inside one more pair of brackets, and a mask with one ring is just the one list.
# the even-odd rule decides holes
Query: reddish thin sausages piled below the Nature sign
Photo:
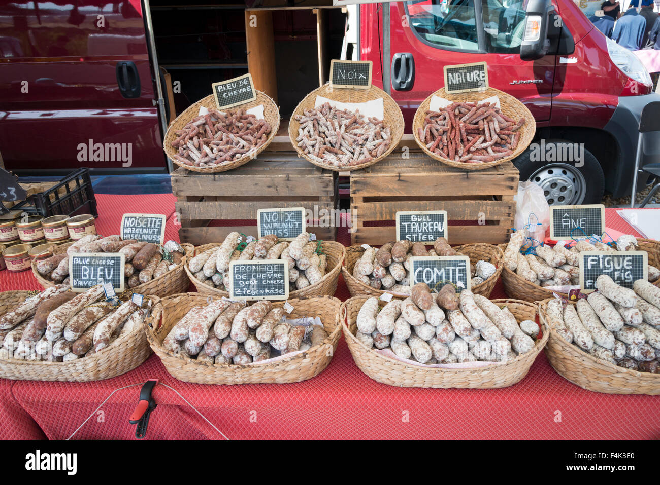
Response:
[{"label": "reddish thin sausages piled below the Nature sign", "polygon": [[525,118],[515,121],[496,103],[452,103],[441,111],[426,111],[418,136],[443,158],[486,163],[513,154],[524,124]]}]

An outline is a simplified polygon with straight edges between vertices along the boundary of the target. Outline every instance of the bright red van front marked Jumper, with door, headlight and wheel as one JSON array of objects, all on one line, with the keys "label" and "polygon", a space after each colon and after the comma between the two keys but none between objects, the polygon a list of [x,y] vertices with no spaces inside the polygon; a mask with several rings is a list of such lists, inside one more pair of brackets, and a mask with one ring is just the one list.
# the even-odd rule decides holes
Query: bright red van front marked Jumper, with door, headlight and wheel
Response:
[{"label": "bright red van front marked Jumper, with door, headlight and wheel", "polygon": [[[597,30],[573,0],[552,6],[558,42],[540,59],[524,61],[527,0],[393,2],[389,42],[388,4],[363,4],[360,59],[374,61],[379,87],[389,71],[406,132],[420,103],[444,84],[445,65],[486,61],[490,86],[525,103],[537,122],[535,145],[514,161],[521,180],[543,186],[550,204],[597,203],[604,190],[630,194],[640,113],[660,95],[637,57]],[[645,133],[642,150],[642,165],[657,160],[660,132]],[[638,186],[647,178],[640,173]]]}]

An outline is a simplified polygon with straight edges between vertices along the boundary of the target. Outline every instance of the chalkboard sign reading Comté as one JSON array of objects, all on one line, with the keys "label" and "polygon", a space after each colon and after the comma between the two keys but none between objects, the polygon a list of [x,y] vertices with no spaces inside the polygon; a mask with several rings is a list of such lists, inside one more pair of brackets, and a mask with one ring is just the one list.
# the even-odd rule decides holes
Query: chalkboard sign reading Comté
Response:
[{"label": "chalkboard sign reading Comt\u00e9", "polygon": [[410,259],[411,287],[423,281],[433,291],[453,283],[457,291],[470,289],[470,258],[467,256],[414,256]]}]

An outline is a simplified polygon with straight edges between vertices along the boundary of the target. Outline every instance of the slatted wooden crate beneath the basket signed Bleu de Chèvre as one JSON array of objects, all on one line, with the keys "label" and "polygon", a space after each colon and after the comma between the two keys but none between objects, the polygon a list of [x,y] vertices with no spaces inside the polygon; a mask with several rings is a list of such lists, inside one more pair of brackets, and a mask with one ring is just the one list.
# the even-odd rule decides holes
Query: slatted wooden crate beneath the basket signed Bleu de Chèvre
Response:
[{"label": "slatted wooden crate beneath the basket signed Bleu de Ch\u00e8vre", "polygon": [[[337,174],[315,167],[293,152],[264,152],[241,167],[220,173],[178,168],[171,177],[175,211],[182,224],[179,237],[182,243],[195,246],[221,242],[232,231],[256,236],[259,209],[304,207],[313,213],[337,209]],[[222,227],[209,226],[215,220],[222,221]],[[308,232],[325,241],[337,237],[337,227],[310,227]]]}]

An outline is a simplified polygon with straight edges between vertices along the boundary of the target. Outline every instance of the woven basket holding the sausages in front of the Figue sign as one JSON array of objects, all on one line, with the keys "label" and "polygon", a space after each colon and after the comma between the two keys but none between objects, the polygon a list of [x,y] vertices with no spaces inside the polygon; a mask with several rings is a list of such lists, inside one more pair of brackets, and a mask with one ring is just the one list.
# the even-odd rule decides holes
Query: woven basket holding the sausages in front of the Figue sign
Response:
[{"label": "woven basket holding the sausages in front of the Figue sign", "polygon": [[[539,318],[547,327],[548,300],[539,303]],[[575,304],[568,302],[568,304]],[[660,374],[639,372],[600,360],[568,343],[550,328],[550,339],[545,347],[550,365],[573,384],[588,391],[607,394],[660,394]]]}]

